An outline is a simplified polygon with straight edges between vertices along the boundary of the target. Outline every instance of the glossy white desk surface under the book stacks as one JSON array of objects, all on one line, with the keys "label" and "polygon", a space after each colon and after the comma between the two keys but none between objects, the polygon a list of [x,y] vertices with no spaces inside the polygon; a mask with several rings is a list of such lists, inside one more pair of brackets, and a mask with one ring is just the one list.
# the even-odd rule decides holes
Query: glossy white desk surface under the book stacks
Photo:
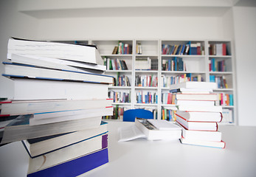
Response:
[{"label": "glossy white desk surface under the book stacks", "polygon": [[[108,122],[109,163],[82,176],[256,176],[256,127],[220,126],[225,149],[151,142],[117,142],[117,128],[131,122]],[[28,156],[21,142],[0,147],[0,176],[27,175]]]}]

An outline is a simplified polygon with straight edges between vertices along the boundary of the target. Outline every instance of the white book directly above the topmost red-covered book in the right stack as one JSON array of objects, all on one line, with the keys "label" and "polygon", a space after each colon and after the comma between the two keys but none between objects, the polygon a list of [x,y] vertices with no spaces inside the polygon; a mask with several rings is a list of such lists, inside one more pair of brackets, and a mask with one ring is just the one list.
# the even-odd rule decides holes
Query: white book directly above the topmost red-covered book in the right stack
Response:
[{"label": "white book directly above the topmost red-covered book in the right stack", "polygon": [[177,105],[179,111],[222,112],[220,105]]}]

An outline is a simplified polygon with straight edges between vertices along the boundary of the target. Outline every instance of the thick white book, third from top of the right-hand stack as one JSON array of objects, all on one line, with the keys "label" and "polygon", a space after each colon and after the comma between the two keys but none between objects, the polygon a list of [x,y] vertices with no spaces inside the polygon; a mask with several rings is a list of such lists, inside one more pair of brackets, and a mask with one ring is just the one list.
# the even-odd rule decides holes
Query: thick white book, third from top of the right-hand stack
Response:
[{"label": "thick white book, third from top of the right-hand stack", "polygon": [[207,100],[216,101],[218,100],[217,94],[173,94],[176,100]]}]

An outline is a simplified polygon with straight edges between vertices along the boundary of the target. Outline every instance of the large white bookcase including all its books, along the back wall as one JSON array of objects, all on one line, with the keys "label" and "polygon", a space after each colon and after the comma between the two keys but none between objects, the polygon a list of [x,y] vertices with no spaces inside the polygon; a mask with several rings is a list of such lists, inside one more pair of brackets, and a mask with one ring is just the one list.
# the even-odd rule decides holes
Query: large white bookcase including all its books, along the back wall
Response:
[{"label": "large white bookcase including all its books, along the back wall", "polygon": [[[163,110],[176,109],[175,105],[163,103],[162,95],[169,92],[174,80],[182,82],[186,78],[218,83],[214,92],[219,94],[220,101],[216,103],[228,115],[222,124],[237,124],[235,59],[230,40],[97,39],[58,42],[97,45],[108,65],[105,74],[115,77],[114,85],[108,89],[109,97],[114,98],[114,119],[122,120],[118,114],[131,108],[151,110],[156,119],[162,119]],[[115,47],[117,51],[114,52]],[[123,60],[126,68],[110,68],[110,60],[113,65],[114,62],[122,65]]]}]

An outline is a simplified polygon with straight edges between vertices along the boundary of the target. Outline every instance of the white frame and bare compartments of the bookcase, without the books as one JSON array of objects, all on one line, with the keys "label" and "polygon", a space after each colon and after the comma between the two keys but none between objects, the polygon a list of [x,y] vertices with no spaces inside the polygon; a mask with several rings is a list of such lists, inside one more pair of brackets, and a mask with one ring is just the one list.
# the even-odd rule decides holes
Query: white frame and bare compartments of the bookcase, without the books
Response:
[{"label": "white frame and bare compartments of the bookcase, without the books", "polygon": [[[131,54],[112,54],[114,46],[117,46],[119,42],[124,44],[131,45]],[[67,42],[67,41],[64,41]],[[74,41],[72,41],[74,42]],[[229,109],[232,111],[232,122],[226,122],[225,124],[235,125],[237,124],[237,103],[236,103],[236,85],[235,85],[235,59],[232,55],[233,44],[229,40],[192,40],[191,44],[200,44],[201,52],[200,55],[170,55],[162,54],[162,46],[165,45],[183,45],[187,44],[187,40],[159,40],[159,39],[117,39],[117,40],[88,40],[88,41],[75,41],[75,43],[82,44],[95,44],[97,49],[99,49],[100,55],[102,58],[109,59],[120,59],[125,60],[125,63],[128,66],[128,70],[107,70],[105,74],[112,75],[117,78],[117,74],[127,76],[130,80],[131,86],[110,86],[109,91],[120,91],[120,92],[130,92],[131,103],[113,103],[114,106],[120,106],[121,108],[131,109],[131,108],[146,108],[149,110],[157,110],[157,119],[161,119],[162,108],[175,109],[175,105],[167,105],[162,103],[161,95],[162,93],[167,93],[168,87],[163,87],[161,84],[161,77],[176,77],[177,75],[191,74],[192,77],[201,75],[201,78],[204,81],[209,82],[210,76],[214,75],[215,77],[223,76],[226,77],[226,83],[228,85],[227,89],[219,88],[215,89],[215,93],[223,94],[233,94],[233,104],[234,105],[222,105],[223,108]],[[142,53],[136,53],[136,45],[141,44]],[[210,53],[209,46],[210,44],[226,44],[228,49],[228,55],[214,55]],[[157,61],[156,70],[136,70],[135,69],[135,60],[136,58],[151,58],[151,60]],[[186,65],[186,70],[182,71],[164,71],[162,70],[162,63],[164,60],[173,60],[173,58],[182,58],[183,62]],[[210,71],[209,63],[212,58],[215,58],[215,61],[224,60],[226,65],[225,71]],[[145,76],[151,75],[158,77],[158,86],[136,86],[135,79],[136,75]],[[139,91],[151,91],[158,95],[157,104],[156,103],[137,103],[136,93]],[[224,123],[222,123],[224,124]]]}]

